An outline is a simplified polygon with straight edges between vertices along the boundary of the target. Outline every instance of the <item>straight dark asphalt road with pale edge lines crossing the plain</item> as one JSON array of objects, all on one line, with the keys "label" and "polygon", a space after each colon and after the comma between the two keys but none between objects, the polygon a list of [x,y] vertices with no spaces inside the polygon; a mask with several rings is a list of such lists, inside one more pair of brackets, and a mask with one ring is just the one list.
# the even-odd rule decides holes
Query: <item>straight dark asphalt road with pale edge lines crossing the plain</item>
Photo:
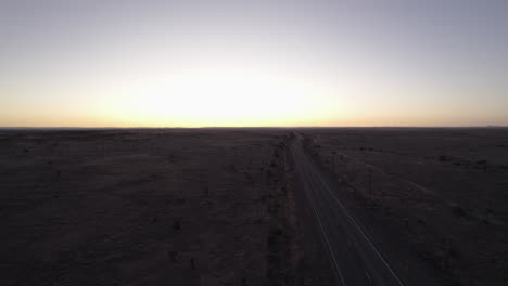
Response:
[{"label": "straight dark asphalt road with pale edge lines crossing the plain", "polygon": [[329,253],[336,285],[405,285],[374,242],[343,205],[331,185],[303,150],[296,134],[290,151],[303,191],[314,213],[316,229]]}]

